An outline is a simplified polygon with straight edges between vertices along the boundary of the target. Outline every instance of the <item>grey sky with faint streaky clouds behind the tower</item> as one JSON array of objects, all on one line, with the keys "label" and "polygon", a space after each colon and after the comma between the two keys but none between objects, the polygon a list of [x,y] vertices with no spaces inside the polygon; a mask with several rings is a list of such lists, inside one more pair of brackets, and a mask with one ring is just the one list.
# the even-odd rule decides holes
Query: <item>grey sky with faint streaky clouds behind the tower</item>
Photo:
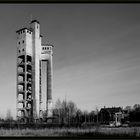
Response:
[{"label": "grey sky with faint streaky clouds behind the tower", "polygon": [[0,117],[16,115],[16,30],[40,22],[53,49],[53,103],[140,103],[140,4],[0,4]]}]

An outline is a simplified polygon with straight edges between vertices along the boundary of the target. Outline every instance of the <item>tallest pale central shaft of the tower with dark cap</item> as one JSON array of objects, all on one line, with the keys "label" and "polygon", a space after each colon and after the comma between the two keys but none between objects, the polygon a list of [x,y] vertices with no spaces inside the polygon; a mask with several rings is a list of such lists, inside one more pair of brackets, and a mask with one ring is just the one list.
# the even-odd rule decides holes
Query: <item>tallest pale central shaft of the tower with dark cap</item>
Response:
[{"label": "tallest pale central shaft of the tower with dark cap", "polygon": [[40,51],[41,51],[41,42],[40,42],[40,24],[38,21],[34,20],[31,22],[31,27],[33,29],[32,34],[32,47],[33,47],[33,71],[32,71],[32,87],[33,87],[33,118],[35,120],[39,119],[39,60],[40,60]]}]

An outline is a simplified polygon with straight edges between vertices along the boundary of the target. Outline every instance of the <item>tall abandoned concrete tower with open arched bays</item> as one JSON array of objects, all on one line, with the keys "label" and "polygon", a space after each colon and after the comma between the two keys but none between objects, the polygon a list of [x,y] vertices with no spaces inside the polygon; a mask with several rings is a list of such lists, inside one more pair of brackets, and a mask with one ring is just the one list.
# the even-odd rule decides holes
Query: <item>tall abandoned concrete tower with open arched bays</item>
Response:
[{"label": "tall abandoned concrete tower with open arched bays", "polygon": [[52,49],[42,44],[37,20],[17,33],[17,118],[32,122],[52,116]]}]

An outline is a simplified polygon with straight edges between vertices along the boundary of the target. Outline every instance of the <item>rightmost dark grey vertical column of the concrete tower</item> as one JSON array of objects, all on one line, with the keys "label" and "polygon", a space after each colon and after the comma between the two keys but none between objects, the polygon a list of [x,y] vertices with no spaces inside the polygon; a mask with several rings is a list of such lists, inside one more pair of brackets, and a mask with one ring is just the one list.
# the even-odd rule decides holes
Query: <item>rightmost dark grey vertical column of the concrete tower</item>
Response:
[{"label": "rightmost dark grey vertical column of the concrete tower", "polygon": [[52,116],[52,56],[47,63],[47,117]]}]

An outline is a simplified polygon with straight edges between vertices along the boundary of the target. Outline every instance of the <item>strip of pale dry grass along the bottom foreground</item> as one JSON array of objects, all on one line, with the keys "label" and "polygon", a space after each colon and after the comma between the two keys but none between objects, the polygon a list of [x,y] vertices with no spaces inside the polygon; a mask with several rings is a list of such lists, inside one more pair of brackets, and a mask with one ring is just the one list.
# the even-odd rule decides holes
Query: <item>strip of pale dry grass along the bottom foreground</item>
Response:
[{"label": "strip of pale dry grass along the bottom foreground", "polygon": [[140,127],[131,128],[45,128],[45,129],[0,129],[0,136],[115,136],[140,137]]}]

